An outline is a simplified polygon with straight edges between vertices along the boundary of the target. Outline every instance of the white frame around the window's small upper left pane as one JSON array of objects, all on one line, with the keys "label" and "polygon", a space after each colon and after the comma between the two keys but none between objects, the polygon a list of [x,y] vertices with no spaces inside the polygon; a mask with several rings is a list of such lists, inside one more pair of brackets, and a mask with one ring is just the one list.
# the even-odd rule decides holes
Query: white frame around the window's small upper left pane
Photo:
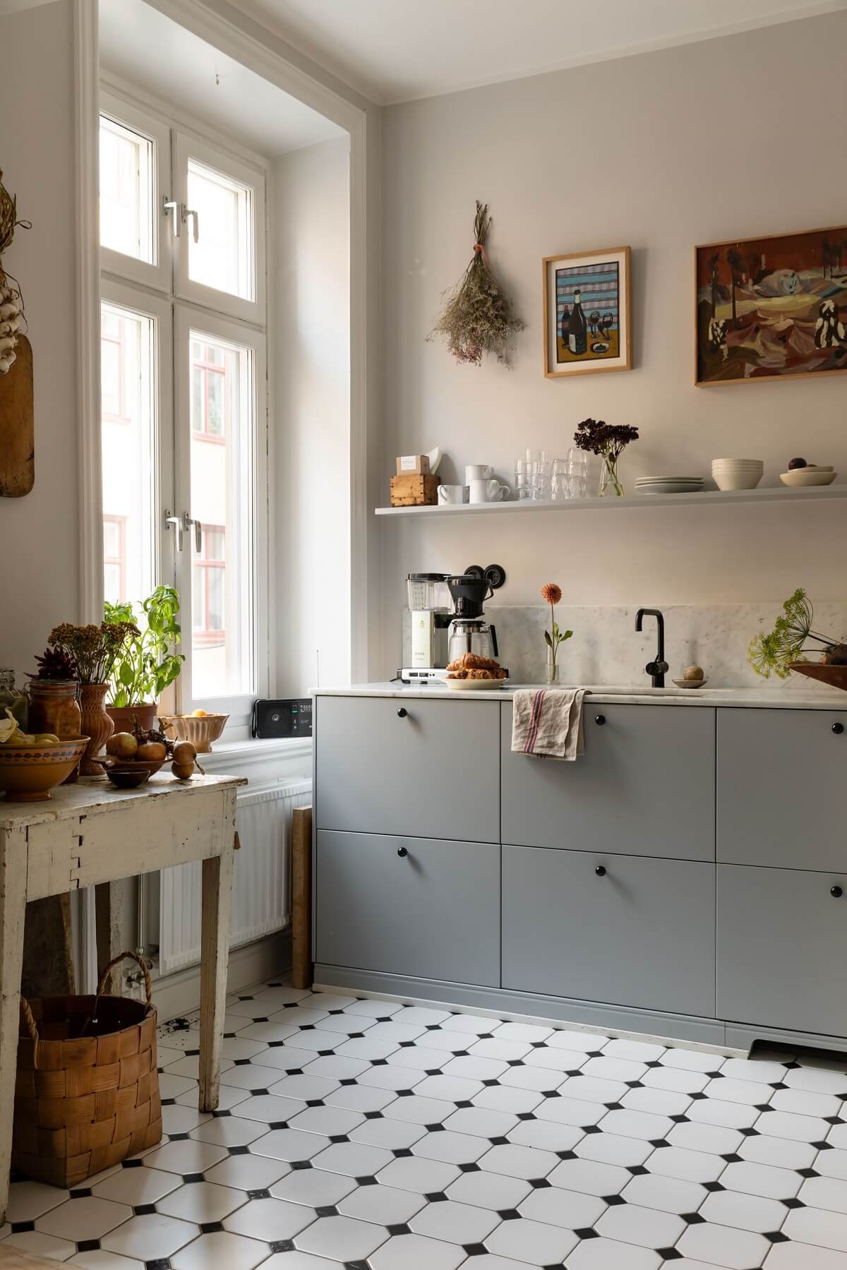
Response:
[{"label": "white frame around the window's small upper left pane", "polygon": [[170,128],[161,119],[135,103],[117,97],[114,93],[100,93],[100,114],[108,116],[116,123],[140,133],[152,145],[151,185],[152,185],[152,224],[150,226],[154,246],[154,263],[138,260],[112,248],[100,248],[100,268],[116,277],[140,282],[155,291],[170,291],[173,283],[173,213],[165,213],[164,202],[170,198]]}]

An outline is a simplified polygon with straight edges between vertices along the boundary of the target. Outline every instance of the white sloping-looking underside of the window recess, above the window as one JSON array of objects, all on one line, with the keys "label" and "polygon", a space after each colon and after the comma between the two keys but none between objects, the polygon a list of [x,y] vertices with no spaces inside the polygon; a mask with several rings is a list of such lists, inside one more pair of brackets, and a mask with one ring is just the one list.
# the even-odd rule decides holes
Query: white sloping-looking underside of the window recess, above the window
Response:
[{"label": "white sloping-looking underside of the window recess, above the window", "polygon": [[[104,70],[268,159],[347,133],[143,0],[99,0]],[[218,83],[220,81],[220,83]]]}]

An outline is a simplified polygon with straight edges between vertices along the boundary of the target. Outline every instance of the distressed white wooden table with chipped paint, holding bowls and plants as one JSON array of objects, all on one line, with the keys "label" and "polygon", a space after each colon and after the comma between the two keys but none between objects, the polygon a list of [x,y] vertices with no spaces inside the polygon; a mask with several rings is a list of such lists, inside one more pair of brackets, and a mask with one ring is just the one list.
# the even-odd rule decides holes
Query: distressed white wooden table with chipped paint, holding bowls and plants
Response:
[{"label": "distressed white wooden table with chipped paint, holding bowls and plants", "polygon": [[0,1223],[9,1199],[27,900],[97,886],[98,908],[108,914],[110,883],[203,861],[199,1106],[217,1106],[239,785],[246,781],[194,776],[182,785],[156,775],[140,789],[116,790],[83,779],[53,790],[50,801],[0,800]]}]

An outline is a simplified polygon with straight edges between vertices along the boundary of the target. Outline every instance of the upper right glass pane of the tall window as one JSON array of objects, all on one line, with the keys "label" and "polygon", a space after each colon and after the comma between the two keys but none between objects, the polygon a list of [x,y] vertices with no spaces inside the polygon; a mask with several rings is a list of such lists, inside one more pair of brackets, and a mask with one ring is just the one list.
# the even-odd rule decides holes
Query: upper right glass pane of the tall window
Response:
[{"label": "upper right glass pane of the tall window", "polygon": [[189,278],[254,300],[253,190],[189,159],[188,206],[197,212],[199,239],[188,240]]}]

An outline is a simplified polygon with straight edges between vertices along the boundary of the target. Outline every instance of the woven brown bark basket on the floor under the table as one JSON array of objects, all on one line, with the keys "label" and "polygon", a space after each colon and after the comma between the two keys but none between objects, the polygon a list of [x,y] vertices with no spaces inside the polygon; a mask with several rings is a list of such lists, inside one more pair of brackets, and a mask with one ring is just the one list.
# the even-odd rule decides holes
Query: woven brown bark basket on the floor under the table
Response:
[{"label": "woven brown bark basket on the floor under the table", "polygon": [[[147,1002],[103,993],[133,958]],[[76,1186],[161,1139],[156,1011],[147,968],[122,952],[97,996],[20,998],[11,1167],[52,1186]]]}]

